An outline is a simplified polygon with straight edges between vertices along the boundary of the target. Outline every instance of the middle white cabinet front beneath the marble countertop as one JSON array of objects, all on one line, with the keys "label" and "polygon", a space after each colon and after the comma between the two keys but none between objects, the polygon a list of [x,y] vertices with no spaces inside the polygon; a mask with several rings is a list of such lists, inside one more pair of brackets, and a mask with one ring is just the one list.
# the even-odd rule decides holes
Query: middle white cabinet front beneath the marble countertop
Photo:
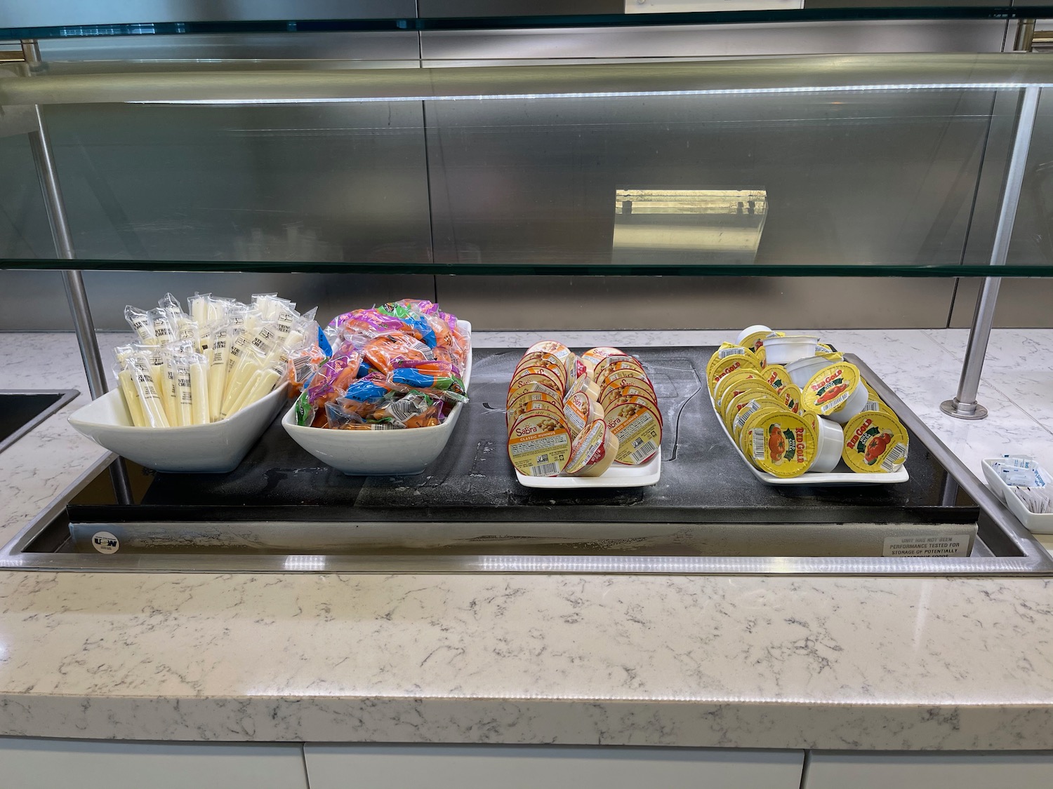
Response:
[{"label": "middle white cabinet front beneath the marble countertop", "polygon": [[306,745],[311,789],[798,789],[801,751]]}]

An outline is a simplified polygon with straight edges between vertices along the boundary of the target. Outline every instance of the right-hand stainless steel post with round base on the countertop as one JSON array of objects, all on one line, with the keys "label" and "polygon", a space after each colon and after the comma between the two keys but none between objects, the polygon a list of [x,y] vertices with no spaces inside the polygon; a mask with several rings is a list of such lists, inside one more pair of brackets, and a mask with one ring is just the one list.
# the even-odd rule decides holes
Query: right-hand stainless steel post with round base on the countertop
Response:
[{"label": "right-hand stainless steel post with round base on the countertop", "polygon": [[[1002,189],[1001,206],[998,209],[998,226],[995,230],[994,247],[991,249],[992,266],[1005,265],[1006,259],[1009,257],[1009,242],[1013,236],[1016,208],[1020,202],[1020,189],[1024,186],[1028,149],[1031,147],[1031,133],[1038,114],[1040,93],[1041,88],[1039,87],[1024,89],[1024,99],[1020,101],[1020,112],[1016,122],[1016,135],[1013,138],[1013,154],[1009,160],[1006,187]],[[984,370],[984,358],[987,356],[988,341],[991,339],[994,308],[998,301],[1000,286],[1000,277],[988,277],[984,280],[984,288],[976,300],[973,326],[969,332],[966,361],[961,365],[958,393],[954,396],[953,400],[945,400],[939,406],[943,413],[951,417],[976,420],[985,419],[988,414],[987,408],[976,402],[976,392],[980,386],[980,372]]]}]

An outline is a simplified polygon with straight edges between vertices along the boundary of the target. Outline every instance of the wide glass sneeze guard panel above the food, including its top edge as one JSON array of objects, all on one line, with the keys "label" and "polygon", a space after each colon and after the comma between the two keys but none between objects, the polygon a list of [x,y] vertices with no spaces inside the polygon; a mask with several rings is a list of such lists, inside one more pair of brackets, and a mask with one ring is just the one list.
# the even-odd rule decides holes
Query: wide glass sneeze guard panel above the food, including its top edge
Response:
[{"label": "wide glass sneeze guard panel above the food, including its top edge", "polygon": [[1053,277],[1050,87],[1037,55],[7,64],[0,267],[69,266],[26,135],[2,136],[37,105],[79,268]]}]

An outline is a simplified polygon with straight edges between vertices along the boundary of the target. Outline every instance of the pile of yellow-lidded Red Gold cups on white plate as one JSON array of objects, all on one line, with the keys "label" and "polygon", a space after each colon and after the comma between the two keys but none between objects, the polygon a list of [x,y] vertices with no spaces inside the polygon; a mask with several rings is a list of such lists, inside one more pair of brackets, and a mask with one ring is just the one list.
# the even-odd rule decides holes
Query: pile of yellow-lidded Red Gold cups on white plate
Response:
[{"label": "pile of yellow-lidded Red Gold cups on white plate", "polygon": [[717,416],[761,471],[780,478],[893,472],[908,434],[859,369],[818,338],[750,326],[707,365]]}]

